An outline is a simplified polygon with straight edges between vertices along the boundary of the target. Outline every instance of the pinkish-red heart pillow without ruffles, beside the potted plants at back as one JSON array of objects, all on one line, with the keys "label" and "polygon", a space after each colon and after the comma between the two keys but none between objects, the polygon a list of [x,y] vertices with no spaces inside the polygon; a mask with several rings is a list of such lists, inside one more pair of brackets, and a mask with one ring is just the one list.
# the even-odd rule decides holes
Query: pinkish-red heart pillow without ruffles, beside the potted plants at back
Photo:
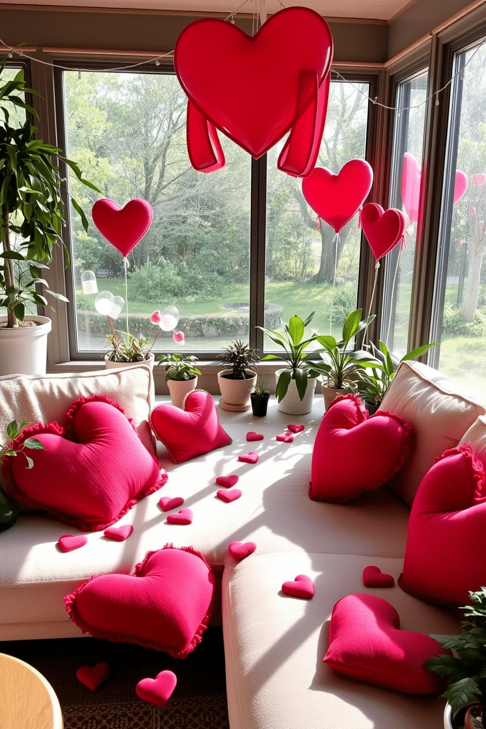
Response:
[{"label": "pinkish-red heart pillow without ruffles, beside the potted plants at back", "polygon": [[205,390],[194,390],[184,399],[184,410],[159,405],[149,418],[152,430],[162,441],[174,463],[209,453],[232,443],[219,424],[213,398]]}]

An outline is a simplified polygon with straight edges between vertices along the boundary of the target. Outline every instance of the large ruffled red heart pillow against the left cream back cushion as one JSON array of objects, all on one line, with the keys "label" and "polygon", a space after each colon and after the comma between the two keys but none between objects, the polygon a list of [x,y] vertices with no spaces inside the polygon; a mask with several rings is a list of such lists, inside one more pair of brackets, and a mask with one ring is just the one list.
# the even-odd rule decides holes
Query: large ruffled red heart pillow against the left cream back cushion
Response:
[{"label": "large ruffled red heart pillow against the left cream back cushion", "polygon": [[12,447],[32,435],[44,450],[26,449],[34,460],[31,469],[24,459],[5,459],[7,491],[24,507],[83,531],[106,529],[167,480],[122,408],[104,395],[80,397],[64,428],[28,427]]}]

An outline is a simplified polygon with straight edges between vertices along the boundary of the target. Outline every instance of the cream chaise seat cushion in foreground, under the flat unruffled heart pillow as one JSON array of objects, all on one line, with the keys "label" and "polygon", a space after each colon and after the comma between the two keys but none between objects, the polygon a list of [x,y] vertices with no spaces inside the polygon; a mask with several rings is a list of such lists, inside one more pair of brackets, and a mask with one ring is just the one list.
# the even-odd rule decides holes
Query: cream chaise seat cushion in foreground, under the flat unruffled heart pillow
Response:
[{"label": "cream chaise seat cushion in foreground, under the flat unruffled heart pillow", "polygon": [[[337,674],[322,659],[332,607],[350,593],[372,593],[399,613],[401,628],[458,633],[446,609],[420,602],[395,585],[364,588],[365,566],[396,578],[399,559],[328,554],[253,555],[228,562],[223,575],[223,631],[232,729],[423,729],[442,726],[444,698],[416,697]],[[311,600],[285,596],[281,585],[307,574]]]}]

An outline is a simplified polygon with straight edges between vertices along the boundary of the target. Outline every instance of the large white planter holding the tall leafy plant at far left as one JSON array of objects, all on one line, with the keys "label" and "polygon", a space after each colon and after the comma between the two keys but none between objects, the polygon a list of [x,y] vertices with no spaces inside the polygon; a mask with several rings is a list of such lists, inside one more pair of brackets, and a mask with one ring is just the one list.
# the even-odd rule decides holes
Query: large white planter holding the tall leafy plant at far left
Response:
[{"label": "large white planter holding the tall leafy plant at far left", "polygon": [[[0,316],[0,322],[7,316]],[[45,375],[47,335],[52,321],[47,316],[26,316],[35,327],[0,328],[0,375]]]}]

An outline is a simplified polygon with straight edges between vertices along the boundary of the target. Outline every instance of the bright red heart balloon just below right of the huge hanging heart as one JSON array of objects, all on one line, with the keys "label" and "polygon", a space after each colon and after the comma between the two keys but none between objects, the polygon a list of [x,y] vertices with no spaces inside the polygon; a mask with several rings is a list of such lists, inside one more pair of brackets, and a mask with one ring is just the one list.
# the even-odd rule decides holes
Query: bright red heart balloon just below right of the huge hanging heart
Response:
[{"label": "bright red heart balloon just below right of the huge hanging heart", "polygon": [[365,160],[349,160],[337,175],[325,167],[315,167],[302,180],[302,193],[318,216],[339,233],[361,208],[372,183],[371,165]]}]

